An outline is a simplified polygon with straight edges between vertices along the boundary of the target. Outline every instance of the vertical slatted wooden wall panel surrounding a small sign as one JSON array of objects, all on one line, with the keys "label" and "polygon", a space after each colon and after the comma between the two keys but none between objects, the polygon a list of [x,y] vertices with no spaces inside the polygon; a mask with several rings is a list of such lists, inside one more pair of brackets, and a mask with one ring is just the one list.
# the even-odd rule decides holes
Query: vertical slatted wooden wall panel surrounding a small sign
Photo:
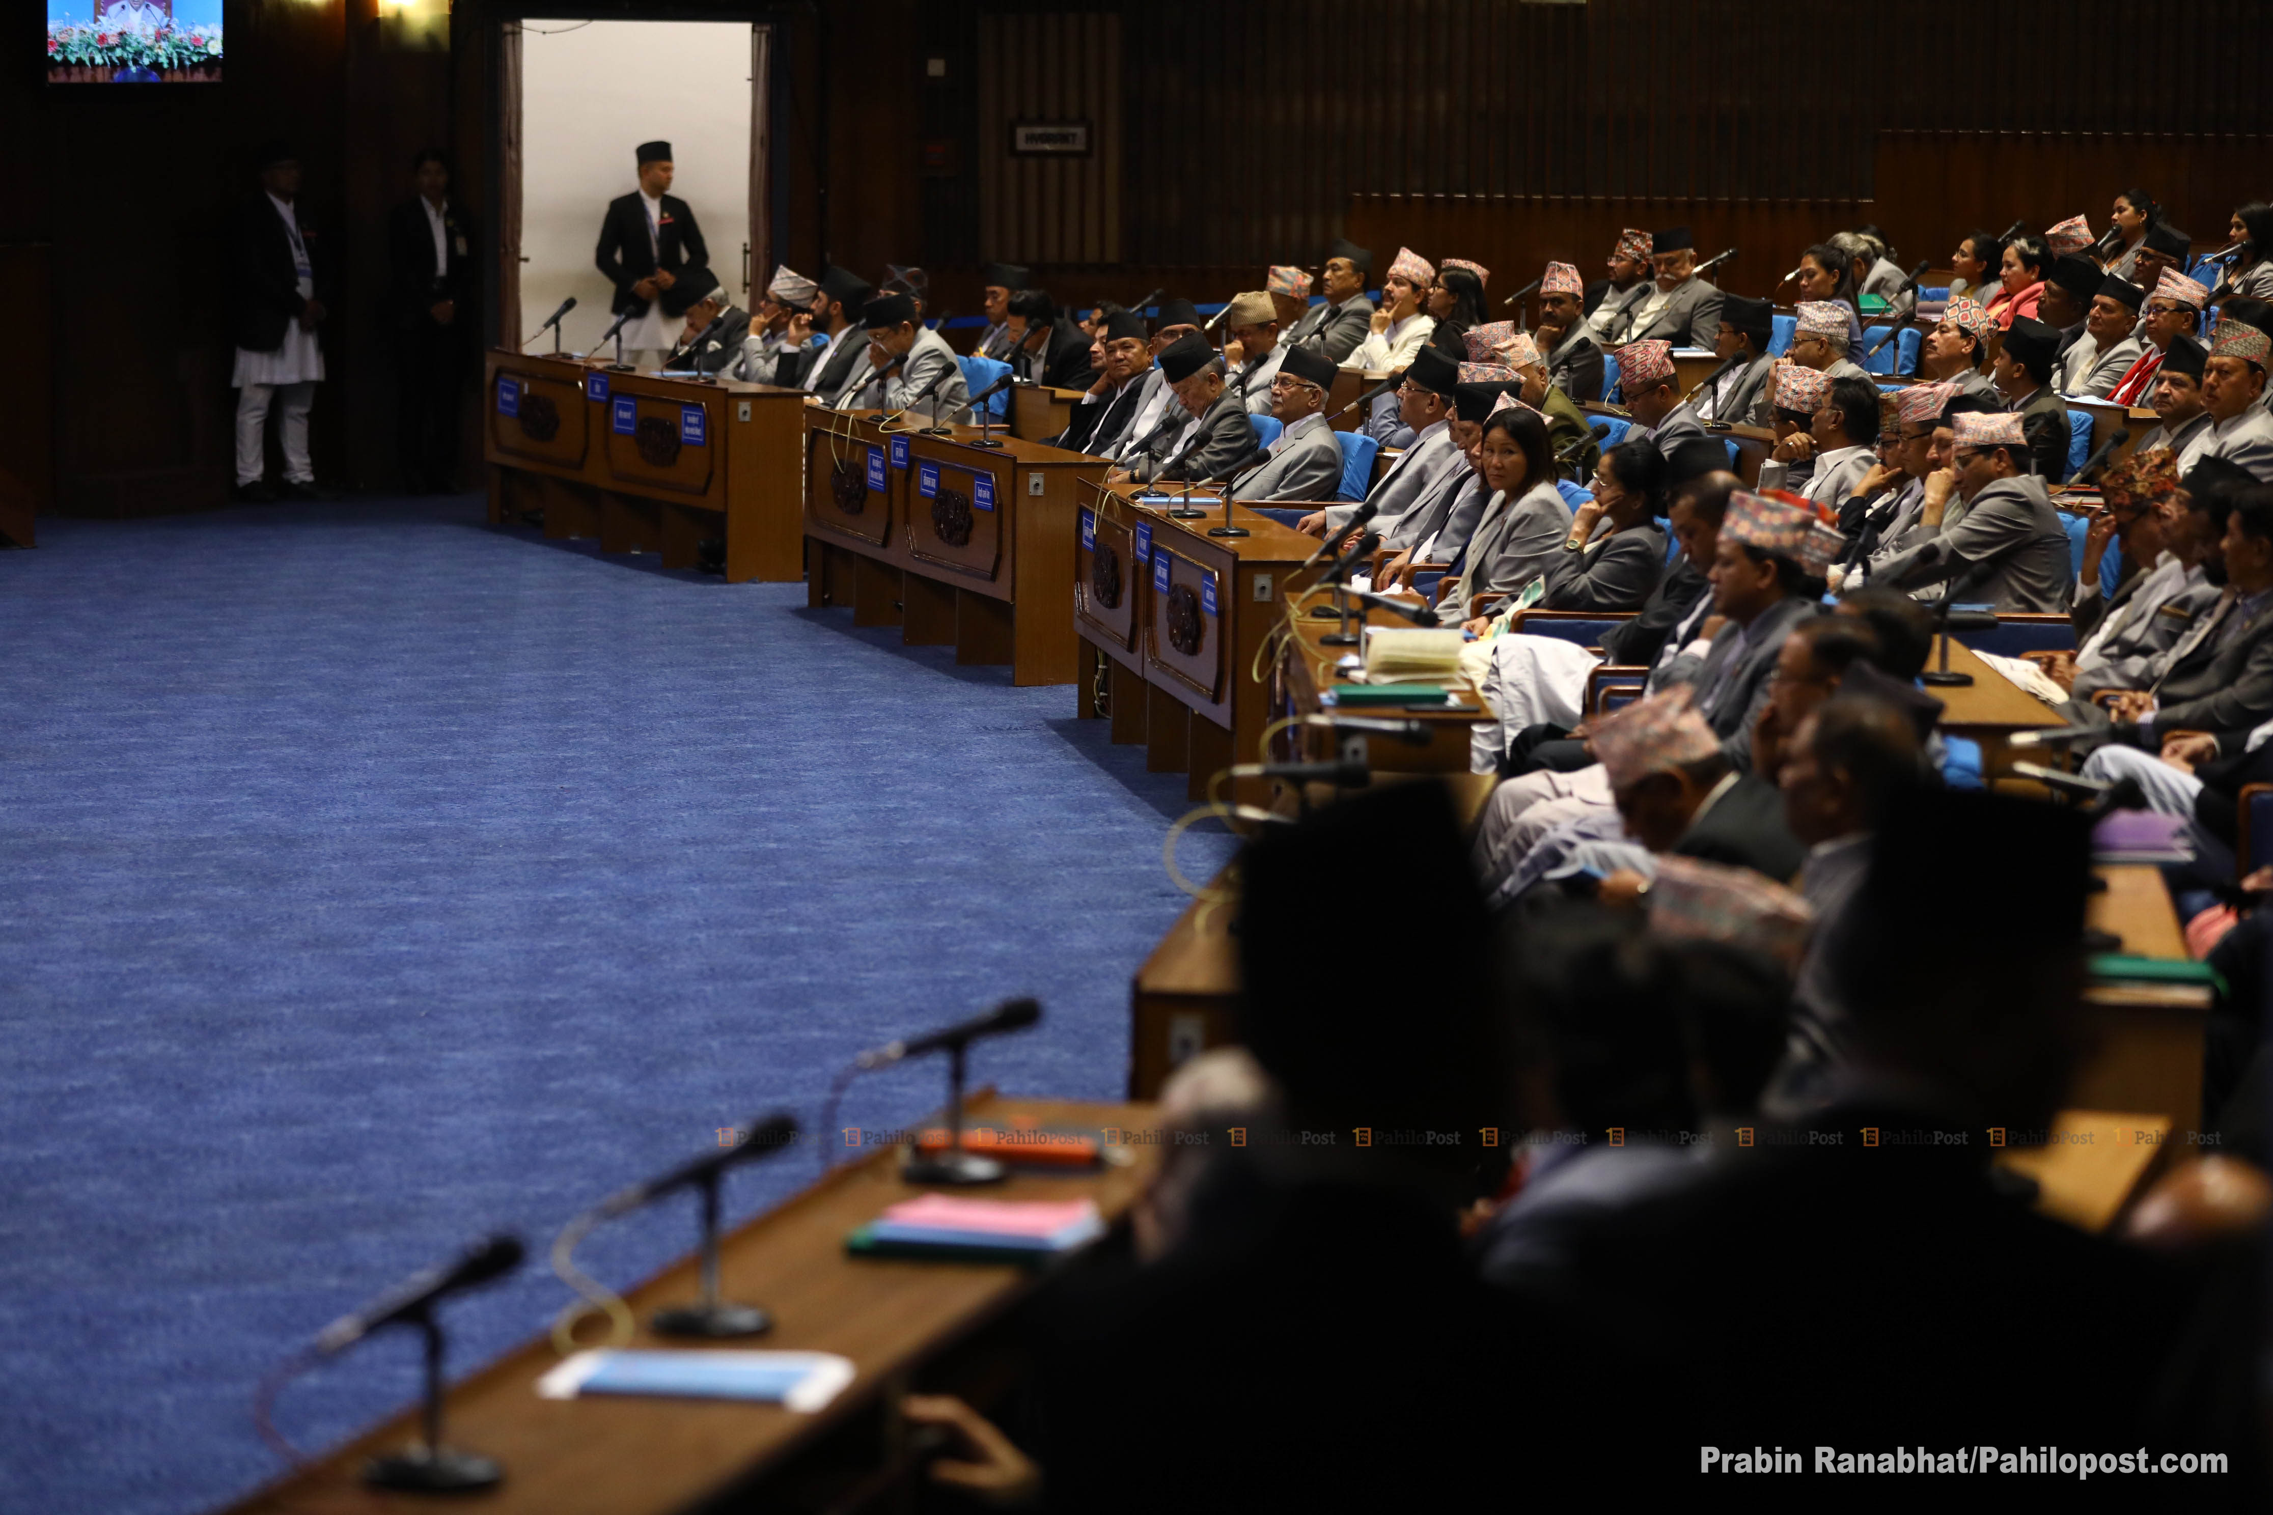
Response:
[{"label": "vertical slatted wooden wall panel surrounding a small sign", "polygon": [[[982,16],[980,248],[1021,263],[1121,261],[1121,18]],[[1011,157],[1021,120],[1086,120],[1086,157]]]}]

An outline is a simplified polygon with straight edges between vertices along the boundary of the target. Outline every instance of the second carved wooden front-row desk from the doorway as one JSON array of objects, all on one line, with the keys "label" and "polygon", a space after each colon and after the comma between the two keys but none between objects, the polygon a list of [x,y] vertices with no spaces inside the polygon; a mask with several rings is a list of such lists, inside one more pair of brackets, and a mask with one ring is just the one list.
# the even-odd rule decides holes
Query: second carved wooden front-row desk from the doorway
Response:
[{"label": "second carved wooden front-row desk from the doorway", "polygon": [[1009,663],[1014,684],[1071,684],[1077,493],[1105,459],[1000,432],[977,447],[977,427],[925,436],[880,416],[805,411],[807,604],[952,645],[957,663]]}]

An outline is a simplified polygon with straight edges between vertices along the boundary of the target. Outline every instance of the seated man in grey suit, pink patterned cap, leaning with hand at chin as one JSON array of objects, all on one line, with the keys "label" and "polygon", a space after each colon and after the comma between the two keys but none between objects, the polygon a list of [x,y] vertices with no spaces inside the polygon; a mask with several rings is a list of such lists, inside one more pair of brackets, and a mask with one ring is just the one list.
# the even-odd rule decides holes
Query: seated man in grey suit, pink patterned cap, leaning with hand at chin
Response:
[{"label": "seated man in grey suit, pink patterned cap, leaning with hand at chin", "polygon": [[[1959,413],[1950,438],[1953,466],[1925,479],[1918,527],[1907,538],[1914,545],[1875,566],[1871,581],[1900,591],[1964,581],[1964,604],[2066,613],[2075,586],[2068,529],[2043,479],[2028,472],[2021,416]],[[1962,511],[1950,511],[1953,497]]]}]

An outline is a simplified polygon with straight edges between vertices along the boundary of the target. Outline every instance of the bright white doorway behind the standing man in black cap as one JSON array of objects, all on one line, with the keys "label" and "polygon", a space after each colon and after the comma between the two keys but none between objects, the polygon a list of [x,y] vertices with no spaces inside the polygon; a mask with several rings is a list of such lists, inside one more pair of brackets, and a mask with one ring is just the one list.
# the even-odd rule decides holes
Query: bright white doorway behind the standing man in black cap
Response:
[{"label": "bright white doorway behind the standing man in black cap", "polygon": [[[516,261],[518,302],[502,311],[505,341],[575,298],[561,348],[593,348],[614,320],[614,286],[593,266],[607,202],[639,189],[634,150],[668,141],[671,193],[693,211],[709,270],[734,304],[761,279],[766,227],[766,75],[771,27],[734,20],[523,20],[518,218],[507,216],[505,257]],[[509,64],[511,66],[511,64]],[[505,166],[514,173],[514,164]],[[507,195],[511,204],[516,195]],[[518,225],[514,225],[518,220]],[[518,236],[516,236],[518,234]],[[516,245],[518,243],[518,245]],[[518,325],[514,325],[518,318]],[[550,338],[546,341],[550,348]]]}]

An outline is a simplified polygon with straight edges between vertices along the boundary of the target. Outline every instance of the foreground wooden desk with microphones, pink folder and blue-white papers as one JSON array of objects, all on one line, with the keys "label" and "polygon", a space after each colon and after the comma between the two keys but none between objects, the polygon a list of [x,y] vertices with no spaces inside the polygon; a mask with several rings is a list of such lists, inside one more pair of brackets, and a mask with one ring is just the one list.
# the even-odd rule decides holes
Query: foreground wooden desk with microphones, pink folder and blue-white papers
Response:
[{"label": "foreground wooden desk with microphones, pink folder and blue-white papers", "polygon": [[[993,1124],[1150,1124],[1150,1111],[1141,1106],[1048,1099],[986,1097],[971,1113]],[[1093,1197],[1107,1217],[1118,1217],[1141,1192],[1157,1154],[1146,1145],[1116,1152],[1130,1161],[1082,1174],[1014,1174],[986,1197]],[[816,1156],[811,1147],[796,1147],[775,1161],[814,1165]],[[1011,1265],[855,1261],[843,1254],[852,1227],[916,1192],[923,1190],[900,1181],[900,1154],[875,1149],[721,1245],[723,1292],[761,1304],[777,1320],[768,1336],[750,1345],[836,1351],[859,1367],[859,1376],[825,1411],[796,1415],[777,1406],[698,1399],[539,1399],[536,1379],[559,1358],[548,1338],[536,1338],[450,1390],[450,1442],[500,1458],[505,1483],[496,1492],[446,1504],[500,1515],[666,1515],[727,1495],[736,1495],[741,1508],[839,1508],[857,1488],[868,1488],[873,1497],[880,1470],[900,1465],[907,1472],[896,1399],[916,1388],[918,1376],[927,1388],[952,1392],[946,1372],[952,1370],[952,1354],[1036,1286],[1036,1274]],[[650,1338],[646,1322],[657,1306],[693,1299],[696,1292],[693,1256],[625,1290],[641,1322],[632,1345],[680,1345]],[[598,1336],[600,1329],[586,1322],[582,1333]],[[409,1442],[414,1426],[414,1413],[396,1415],[230,1508],[241,1515],[441,1508],[434,1499],[366,1490],[355,1476],[364,1458]],[[782,1504],[791,1485],[811,1504]]]}]

